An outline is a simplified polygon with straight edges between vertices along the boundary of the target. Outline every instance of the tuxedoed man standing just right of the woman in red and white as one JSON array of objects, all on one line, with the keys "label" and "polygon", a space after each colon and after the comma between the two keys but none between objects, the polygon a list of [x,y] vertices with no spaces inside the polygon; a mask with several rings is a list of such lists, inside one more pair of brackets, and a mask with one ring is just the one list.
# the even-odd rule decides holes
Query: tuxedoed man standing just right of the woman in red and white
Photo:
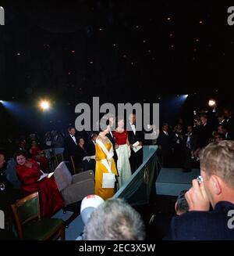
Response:
[{"label": "tuxedoed man standing just right of the woman in red and white", "polygon": [[144,132],[137,131],[136,129],[136,114],[129,114],[129,125],[130,130],[128,131],[128,139],[131,148],[131,156],[129,158],[129,162],[131,165],[131,171],[134,173],[143,162],[143,147],[135,152],[133,150],[133,144],[139,142],[139,146],[143,146]]}]

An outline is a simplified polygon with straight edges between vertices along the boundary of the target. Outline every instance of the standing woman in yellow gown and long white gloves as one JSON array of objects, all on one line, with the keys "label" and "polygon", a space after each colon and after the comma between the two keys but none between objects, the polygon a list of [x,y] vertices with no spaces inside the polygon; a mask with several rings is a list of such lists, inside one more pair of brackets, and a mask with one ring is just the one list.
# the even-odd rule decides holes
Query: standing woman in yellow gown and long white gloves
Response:
[{"label": "standing woman in yellow gown and long white gloves", "polygon": [[[96,139],[95,194],[104,200],[113,197],[115,194],[115,187],[106,185],[106,181],[103,179],[104,174],[111,174],[110,177],[113,176],[114,178],[117,175],[112,142],[105,136],[109,130],[108,125],[105,131],[100,132]],[[112,185],[115,183],[113,182],[112,180]]]}]

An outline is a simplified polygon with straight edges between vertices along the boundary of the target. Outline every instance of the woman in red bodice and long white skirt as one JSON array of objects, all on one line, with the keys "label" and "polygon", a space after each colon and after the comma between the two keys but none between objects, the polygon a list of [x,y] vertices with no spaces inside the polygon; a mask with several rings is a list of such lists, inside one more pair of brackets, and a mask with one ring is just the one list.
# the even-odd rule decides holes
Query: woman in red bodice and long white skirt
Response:
[{"label": "woman in red bodice and long white skirt", "polygon": [[131,150],[129,147],[128,132],[124,129],[124,120],[119,118],[117,121],[117,128],[113,132],[115,136],[115,151],[118,156],[117,170],[119,172],[118,183],[121,188],[126,181],[131,177],[132,171],[129,163]]}]

